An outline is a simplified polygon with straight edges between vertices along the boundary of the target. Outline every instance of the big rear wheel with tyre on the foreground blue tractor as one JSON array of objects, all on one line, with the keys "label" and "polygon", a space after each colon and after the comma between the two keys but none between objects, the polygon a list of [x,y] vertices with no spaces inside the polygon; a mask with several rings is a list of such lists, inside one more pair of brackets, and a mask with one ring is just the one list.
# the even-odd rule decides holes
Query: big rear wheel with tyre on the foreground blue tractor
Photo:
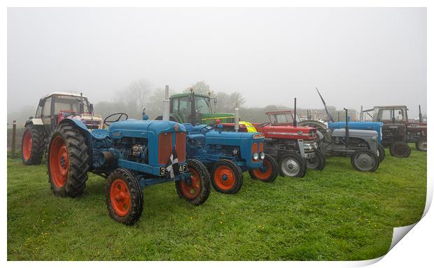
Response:
[{"label": "big rear wheel with tyre on the foreground blue tractor", "polygon": [[89,169],[85,137],[77,127],[62,123],[48,144],[48,182],[52,192],[61,197],[81,195]]}]

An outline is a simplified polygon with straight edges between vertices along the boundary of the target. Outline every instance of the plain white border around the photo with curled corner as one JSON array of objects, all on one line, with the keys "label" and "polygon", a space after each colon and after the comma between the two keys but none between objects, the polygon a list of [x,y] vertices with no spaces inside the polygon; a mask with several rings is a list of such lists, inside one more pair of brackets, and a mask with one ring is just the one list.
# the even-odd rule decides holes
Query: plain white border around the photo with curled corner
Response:
[{"label": "plain white border around the photo with curled corner", "polygon": [[[68,6],[83,6],[83,7],[428,7],[428,84],[427,88],[430,89],[432,85],[432,62],[433,62],[433,55],[430,52],[429,48],[433,47],[432,42],[432,30],[433,30],[433,11],[431,8],[433,8],[433,1],[391,1],[391,0],[367,0],[367,1],[283,1],[283,0],[269,0],[269,1],[258,1],[258,0],[251,0],[251,1],[241,1],[241,0],[221,0],[221,1],[198,1],[198,0],[185,0],[185,1],[138,1],[138,0],[125,0],[125,1],[113,1],[113,0],[78,0],[78,1],[3,1],[3,27],[1,27],[1,34],[3,36],[3,42],[1,43],[1,48],[3,50],[3,66],[2,66],[2,76],[1,76],[1,84],[3,85],[3,92],[6,93],[7,88],[7,81],[6,81],[6,71],[7,71],[7,49],[6,49],[6,30],[7,30],[7,7],[26,7],[26,6],[57,6],[57,7],[68,7]],[[431,30],[431,31],[430,31]],[[427,97],[428,100],[432,99],[432,93],[430,90],[427,90]],[[6,93],[7,94],[7,93]],[[7,113],[6,111],[6,100],[7,98],[3,99],[3,105],[1,105],[1,108],[3,110],[3,115]],[[428,117],[431,118],[431,115],[433,115],[433,109],[428,105]],[[3,123],[3,132],[1,132],[1,139],[4,144],[4,148],[6,148],[6,116],[3,116],[1,118]],[[429,133],[432,132],[432,127],[428,125]],[[6,151],[6,150],[4,150]],[[4,152],[3,151],[3,152]],[[3,202],[1,202],[1,224],[3,225],[3,232],[1,233],[1,256],[3,262],[6,261],[6,243],[7,243],[7,227],[6,227],[6,196],[7,196],[7,185],[6,185],[6,153],[3,153],[0,156],[0,162],[2,164],[1,174],[3,175]],[[428,163],[433,163],[433,157],[428,153]],[[430,165],[428,165],[428,192],[427,192],[427,204],[425,213],[428,212],[428,209],[430,207],[430,203],[433,196],[433,181],[432,181],[432,169]],[[433,260],[433,253],[431,246],[433,245],[433,226],[434,226],[434,216],[433,212],[426,214],[425,217],[416,225],[416,228],[409,231],[409,235],[402,238],[402,241],[398,243],[391,251],[382,258],[375,259],[375,260],[367,260],[367,261],[361,261],[361,262],[272,262],[272,265],[276,266],[297,266],[297,267],[352,267],[352,266],[364,266],[364,265],[370,265],[374,262],[377,262],[378,260],[381,260],[381,262],[377,262],[375,264],[376,267],[388,267],[388,266],[409,266],[409,265],[422,265],[424,263],[432,263]],[[11,267],[22,265],[31,265],[31,266],[58,266],[62,265],[63,267],[72,267],[76,265],[84,265],[84,266],[90,266],[92,265],[90,262],[62,262],[62,264],[56,263],[56,262],[8,262],[7,265]],[[156,267],[165,267],[167,265],[179,265],[174,262],[148,262],[146,264],[141,262],[101,262],[98,263],[98,265],[104,265],[106,267],[114,267],[115,265],[152,265]],[[189,267],[203,267],[206,265],[207,267],[221,267],[221,265],[229,265],[229,266],[235,266],[235,265],[245,265],[245,266],[263,266],[266,265],[262,262],[225,262],[225,264],[222,264],[221,262],[183,262],[181,265],[188,265]],[[416,265],[416,266],[418,266]]]}]

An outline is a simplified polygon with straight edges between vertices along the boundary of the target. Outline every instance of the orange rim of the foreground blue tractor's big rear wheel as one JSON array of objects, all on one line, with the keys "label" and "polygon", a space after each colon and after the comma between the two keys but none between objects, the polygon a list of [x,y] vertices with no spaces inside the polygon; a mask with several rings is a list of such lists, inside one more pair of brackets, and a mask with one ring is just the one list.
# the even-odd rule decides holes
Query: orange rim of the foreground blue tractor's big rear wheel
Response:
[{"label": "orange rim of the foreground blue tractor's big rear wheel", "polygon": [[62,136],[55,137],[50,147],[50,175],[57,188],[62,188],[68,178],[69,157]]}]

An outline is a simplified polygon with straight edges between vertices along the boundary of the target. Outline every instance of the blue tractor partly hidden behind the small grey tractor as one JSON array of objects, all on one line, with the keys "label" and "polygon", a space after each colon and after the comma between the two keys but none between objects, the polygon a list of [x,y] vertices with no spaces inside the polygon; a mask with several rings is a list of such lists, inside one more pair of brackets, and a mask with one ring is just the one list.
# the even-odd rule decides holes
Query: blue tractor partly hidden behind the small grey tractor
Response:
[{"label": "blue tractor partly hidden behind the small grey tractor", "polygon": [[[381,146],[381,129],[383,127],[382,122],[335,122],[332,115],[328,112],[327,106],[325,105],[325,101],[319,93],[318,87],[316,88],[316,92],[318,92],[321,101],[323,101],[323,105],[325,108],[325,113],[328,116],[328,122],[319,122],[317,120],[304,120],[299,123],[299,125],[307,126],[307,127],[315,127],[321,134],[323,134],[323,139],[326,142],[331,142],[330,133],[335,129],[344,129],[346,125],[348,125],[349,129],[358,129],[358,130],[373,130],[378,134],[378,146],[377,146],[377,157],[379,162],[384,160],[386,153],[384,151],[384,147]],[[330,130],[330,131],[329,131]],[[369,147],[365,141],[360,141],[359,147]]]}]

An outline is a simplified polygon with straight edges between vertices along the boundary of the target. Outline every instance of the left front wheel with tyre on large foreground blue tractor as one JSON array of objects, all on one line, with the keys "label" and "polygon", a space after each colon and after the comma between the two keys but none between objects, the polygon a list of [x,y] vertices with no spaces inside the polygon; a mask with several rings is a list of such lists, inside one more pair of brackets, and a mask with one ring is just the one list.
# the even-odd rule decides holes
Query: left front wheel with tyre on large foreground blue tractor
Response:
[{"label": "left front wheel with tyre on large foreground blue tractor", "polygon": [[139,180],[128,169],[111,172],[106,183],[106,204],[111,218],[125,225],[134,225],[144,209]]}]

